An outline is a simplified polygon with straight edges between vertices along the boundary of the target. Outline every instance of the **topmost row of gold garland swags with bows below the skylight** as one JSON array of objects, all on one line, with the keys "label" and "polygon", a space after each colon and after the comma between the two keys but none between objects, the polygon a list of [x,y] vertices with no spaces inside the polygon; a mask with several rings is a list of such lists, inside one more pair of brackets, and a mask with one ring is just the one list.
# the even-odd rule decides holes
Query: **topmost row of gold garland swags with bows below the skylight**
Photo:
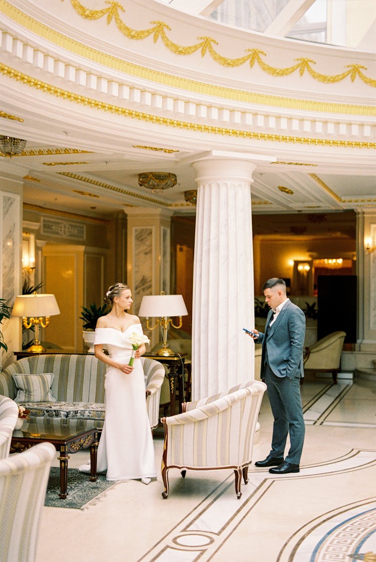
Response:
[{"label": "topmost row of gold garland swags with bows below the skylight", "polygon": [[280,76],[288,76],[296,71],[298,71],[299,76],[302,77],[305,72],[308,72],[314,80],[318,80],[324,84],[335,84],[344,80],[347,76],[350,76],[351,82],[354,82],[356,78],[360,78],[365,84],[376,88],[376,80],[366,76],[362,70],[367,70],[367,68],[366,66],[360,64],[346,65],[345,68],[349,70],[336,75],[326,75],[315,71],[313,67],[313,65],[316,64],[315,61],[305,57],[295,58],[294,60],[297,61],[296,64],[286,68],[270,66],[263,60],[262,56],[266,57],[267,54],[261,49],[246,49],[246,52],[249,54],[238,58],[224,57],[215,49],[214,46],[218,45],[218,41],[212,37],[199,37],[199,43],[190,46],[178,45],[167,37],[166,30],[171,31],[171,27],[166,22],[152,21],[150,23],[154,25],[149,29],[132,29],[121,19],[119,12],[125,12],[125,9],[121,6],[121,4],[109,0],[107,0],[107,3],[109,4],[107,8],[102,8],[102,10],[90,10],[89,8],[83,6],[78,0],[71,0],[74,10],[85,20],[94,21],[99,20],[102,17],[106,17],[107,25],[114,21],[118,30],[128,39],[143,40],[150,37],[150,35],[153,35],[154,44],[161,39],[164,46],[167,47],[169,51],[175,53],[175,55],[194,55],[194,53],[200,51],[201,57],[204,57],[207,53],[209,53],[213,60],[219,65],[230,68],[244,65],[247,62],[250,69],[253,69],[255,64],[257,64],[264,72],[271,76],[277,76],[278,78]]}]

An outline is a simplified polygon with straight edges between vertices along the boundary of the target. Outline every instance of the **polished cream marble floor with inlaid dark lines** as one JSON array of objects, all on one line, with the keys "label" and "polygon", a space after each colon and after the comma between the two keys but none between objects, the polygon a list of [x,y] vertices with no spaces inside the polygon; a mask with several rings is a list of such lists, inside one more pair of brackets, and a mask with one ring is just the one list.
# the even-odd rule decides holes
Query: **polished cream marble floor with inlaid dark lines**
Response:
[{"label": "polished cream marble floor with inlaid dark lines", "polygon": [[[376,380],[306,377],[299,474],[249,469],[236,499],[231,470],[169,471],[149,486],[119,482],[86,510],[44,507],[36,562],[349,562],[376,552]],[[264,396],[253,459],[269,452]],[[161,465],[163,439],[154,436]],[[70,458],[75,467],[88,452]],[[56,461],[56,466],[58,465]]]}]

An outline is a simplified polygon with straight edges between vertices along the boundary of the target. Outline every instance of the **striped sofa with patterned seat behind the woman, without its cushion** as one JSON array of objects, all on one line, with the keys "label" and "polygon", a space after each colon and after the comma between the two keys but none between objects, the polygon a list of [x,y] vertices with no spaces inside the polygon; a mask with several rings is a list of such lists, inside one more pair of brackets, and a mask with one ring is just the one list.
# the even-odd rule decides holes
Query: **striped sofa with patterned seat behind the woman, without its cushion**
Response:
[{"label": "striped sofa with patterned seat behind the woman, without its cushion", "polygon": [[[164,367],[158,361],[144,357],[141,357],[141,362],[144,369],[150,427],[155,428],[159,422],[159,397],[164,379]],[[106,365],[94,355],[46,354],[19,359],[0,373],[0,394],[13,399],[16,397],[17,388],[12,375],[49,373],[53,373],[51,396],[56,398],[56,401],[22,401],[22,404],[30,410],[29,418],[33,418],[36,423],[47,418],[92,420],[95,427],[102,428],[105,413]],[[39,379],[45,384],[48,377],[39,377]],[[46,392],[43,393],[42,389],[43,394],[45,396]]]}]

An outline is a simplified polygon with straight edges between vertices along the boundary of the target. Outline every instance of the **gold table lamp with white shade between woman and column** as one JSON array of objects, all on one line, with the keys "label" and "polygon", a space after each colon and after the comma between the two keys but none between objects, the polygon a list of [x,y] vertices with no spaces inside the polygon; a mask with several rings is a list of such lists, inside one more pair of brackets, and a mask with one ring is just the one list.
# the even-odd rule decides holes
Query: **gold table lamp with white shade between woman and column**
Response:
[{"label": "gold table lamp with white shade between woman and column", "polygon": [[[175,353],[167,347],[168,326],[171,324],[173,328],[181,328],[181,317],[186,316],[187,314],[188,311],[181,294],[164,294],[162,291],[161,294],[143,297],[140,305],[139,316],[144,316],[146,318],[146,328],[148,328],[148,330],[154,330],[157,326],[161,326],[162,330],[163,347],[155,352],[157,355],[165,357],[175,355]],[[169,318],[171,316],[179,317],[179,324],[177,326],[173,323],[172,318]],[[157,318],[157,320],[155,320],[155,325],[152,328],[149,326],[149,317]]]}]

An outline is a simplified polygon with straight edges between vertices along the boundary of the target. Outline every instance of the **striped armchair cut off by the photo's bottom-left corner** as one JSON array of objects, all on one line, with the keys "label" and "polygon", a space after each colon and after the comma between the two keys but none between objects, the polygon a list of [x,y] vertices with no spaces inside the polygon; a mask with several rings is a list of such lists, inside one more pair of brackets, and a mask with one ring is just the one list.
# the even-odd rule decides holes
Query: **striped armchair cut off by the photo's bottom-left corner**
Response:
[{"label": "striped armchair cut off by the photo's bottom-left corner", "polygon": [[33,562],[49,468],[51,443],[39,443],[0,460],[0,560]]}]

